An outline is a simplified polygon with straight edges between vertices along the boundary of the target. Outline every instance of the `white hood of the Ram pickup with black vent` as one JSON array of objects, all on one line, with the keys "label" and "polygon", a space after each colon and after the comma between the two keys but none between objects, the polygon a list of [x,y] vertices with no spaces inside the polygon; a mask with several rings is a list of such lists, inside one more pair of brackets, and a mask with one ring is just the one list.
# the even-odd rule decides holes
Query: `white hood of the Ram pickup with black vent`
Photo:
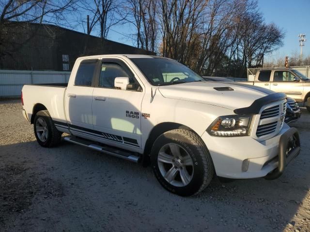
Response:
[{"label": "white hood of the Ram pickup with black vent", "polygon": [[[223,91],[215,89],[220,87],[231,87],[233,90]],[[201,102],[231,110],[248,107],[256,99],[274,93],[261,87],[213,81],[160,86],[158,90],[165,98]]]}]

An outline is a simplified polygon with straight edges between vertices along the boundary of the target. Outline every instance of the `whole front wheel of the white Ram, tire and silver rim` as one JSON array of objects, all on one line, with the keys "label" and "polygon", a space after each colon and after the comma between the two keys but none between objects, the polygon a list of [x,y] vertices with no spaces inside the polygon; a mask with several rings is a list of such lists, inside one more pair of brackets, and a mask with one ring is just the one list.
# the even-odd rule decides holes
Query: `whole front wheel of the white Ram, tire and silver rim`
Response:
[{"label": "whole front wheel of the white Ram, tire and silver rim", "polygon": [[210,153],[202,139],[183,129],[167,131],[156,139],[151,162],[159,183],[180,196],[201,192],[214,174]]}]

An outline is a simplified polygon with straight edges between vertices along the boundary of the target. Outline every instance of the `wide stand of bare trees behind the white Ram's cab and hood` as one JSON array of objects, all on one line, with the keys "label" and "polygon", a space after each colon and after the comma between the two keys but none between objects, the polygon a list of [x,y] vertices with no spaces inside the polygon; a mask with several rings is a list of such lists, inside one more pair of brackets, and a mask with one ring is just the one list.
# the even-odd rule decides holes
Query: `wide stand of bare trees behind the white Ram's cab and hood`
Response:
[{"label": "wide stand of bare trees behind the white Ram's cab and hood", "polygon": [[244,76],[247,67],[262,66],[264,55],[282,45],[284,33],[264,23],[256,0],[128,2],[138,47],[150,50],[149,41],[159,40],[160,55],[197,73]]}]

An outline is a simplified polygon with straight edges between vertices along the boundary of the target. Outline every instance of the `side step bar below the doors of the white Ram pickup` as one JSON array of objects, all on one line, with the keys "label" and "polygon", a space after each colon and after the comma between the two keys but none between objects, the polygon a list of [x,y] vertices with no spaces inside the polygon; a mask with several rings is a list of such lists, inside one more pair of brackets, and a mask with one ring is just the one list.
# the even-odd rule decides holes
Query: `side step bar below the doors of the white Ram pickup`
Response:
[{"label": "side step bar below the doors of the white Ram pickup", "polygon": [[106,153],[106,154],[109,154],[112,156],[116,156],[116,157],[122,158],[124,160],[130,160],[130,161],[133,161],[135,163],[139,162],[140,157],[136,156],[134,152],[117,149],[115,147],[108,146],[108,145],[94,144],[93,141],[82,139],[82,138],[76,138],[76,137],[72,137],[72,136],[67,136],[67,137],[64,137],[63,139],[64,139],[64,141],[67,141],[67,142],[70,142],[73,144],[86,146],[86,147],[92,148],[96,151],[100,151],[100,152],[103,152],[103,153]]}]

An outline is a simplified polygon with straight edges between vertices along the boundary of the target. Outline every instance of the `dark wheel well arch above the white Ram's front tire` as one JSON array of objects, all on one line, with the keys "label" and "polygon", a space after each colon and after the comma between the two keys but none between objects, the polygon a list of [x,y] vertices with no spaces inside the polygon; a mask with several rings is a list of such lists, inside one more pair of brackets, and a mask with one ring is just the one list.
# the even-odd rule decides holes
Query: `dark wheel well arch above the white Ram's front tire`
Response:
[{"label": "dark wheel well arch above the white Ram's front tire", "polygon": [[[144,152],[143,152],[143,166],[148,166],[150,164],[150,155],[151,155],[151,150],[152,146],[155,142],[155,140],[163,133],[175,129],[185,129],[188,131],[192,131],[196,133],[193,129],[180,124],[180,123],[175,123],[175,122],[162,122],[157,124],[152,131],[150,132],[148,139],[145,143],[144,146]],[[196,133],[197,134],[197,133]]]}]

